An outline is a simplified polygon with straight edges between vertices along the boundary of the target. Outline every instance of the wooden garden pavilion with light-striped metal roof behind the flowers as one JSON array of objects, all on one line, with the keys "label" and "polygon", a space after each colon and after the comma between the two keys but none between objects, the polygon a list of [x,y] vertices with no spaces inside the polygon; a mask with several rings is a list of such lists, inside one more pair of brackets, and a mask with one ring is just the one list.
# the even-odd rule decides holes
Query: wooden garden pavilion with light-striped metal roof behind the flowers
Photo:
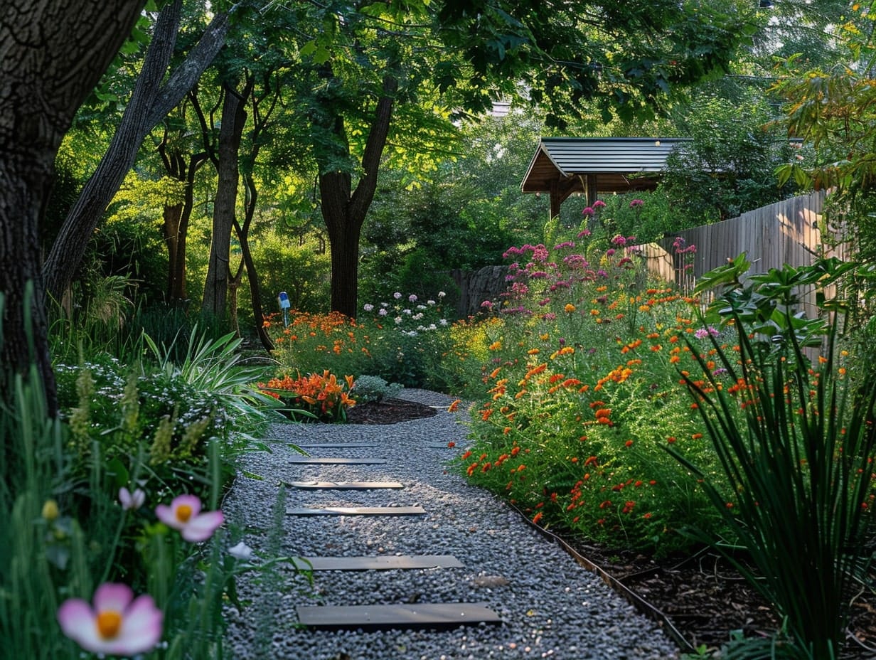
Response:
[{"label": "wooden garden pavilion with light-striped metal roof behind the flowers", "polygon": [[653,190],[666,159],[690,138],[541,138],[520,184],[525,193],[548,193],[550,216],[569,195]]}]

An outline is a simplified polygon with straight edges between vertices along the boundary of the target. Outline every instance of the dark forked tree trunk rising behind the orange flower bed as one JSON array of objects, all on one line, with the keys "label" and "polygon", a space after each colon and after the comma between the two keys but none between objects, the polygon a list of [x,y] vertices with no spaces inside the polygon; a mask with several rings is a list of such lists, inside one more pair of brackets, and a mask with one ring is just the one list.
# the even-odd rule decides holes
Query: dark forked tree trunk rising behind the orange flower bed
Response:
[{"label": "dark forked tree trunk rising behind the orange flower bed", "polygon": [[[383,93],[378,99],[371,131],[362,155],[362,176],[352,190],[349,172],[327,170],[320,163],[320,199],[322,219],[329,233],[331,256],[331,309],[355,318],[358,305],[359,238],[365,216],[378,185],[380,159],[389,136],[392,107],[399,82],[386,75]],[[330,114],[330,109],[325,109]],[[340,144],[350,146],[344,136],[343,117],[335,115],[333,131]]]}]

